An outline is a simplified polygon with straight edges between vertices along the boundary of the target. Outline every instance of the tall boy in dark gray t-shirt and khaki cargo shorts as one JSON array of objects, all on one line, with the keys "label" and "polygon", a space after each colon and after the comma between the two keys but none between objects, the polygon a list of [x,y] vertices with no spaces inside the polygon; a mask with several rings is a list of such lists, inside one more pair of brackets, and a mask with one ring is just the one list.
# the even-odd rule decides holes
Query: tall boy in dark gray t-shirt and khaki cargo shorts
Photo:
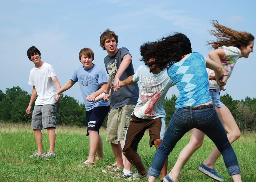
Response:
[{"label": "tall boy in dark gray t-shirt and khaki cargo shorts", "polygon": [[[124,168],[123,177],[129,177],[132,174],[131,163],[122,155],[122,148],[124,136],[131,120],[130,115],[137,104],[139,88],[137,83],[121,89],[118,86],[119,80],[125,80],[134,75],[134,69],[129,50],[125,47],[118,49],[117,44],[118,36],[114,31],[107,29],[100,36],[100,45],[108,53],[104,58],[105,67],[109,74],[108,83],[104,90],[104,100],[110,99],[112,105],[107,121],[106,142],[111,143],[116,158],[116,167],[103,170],[103,173],[121,172]],[[115,92],[114,90],[117,89],[120,91]]]}]

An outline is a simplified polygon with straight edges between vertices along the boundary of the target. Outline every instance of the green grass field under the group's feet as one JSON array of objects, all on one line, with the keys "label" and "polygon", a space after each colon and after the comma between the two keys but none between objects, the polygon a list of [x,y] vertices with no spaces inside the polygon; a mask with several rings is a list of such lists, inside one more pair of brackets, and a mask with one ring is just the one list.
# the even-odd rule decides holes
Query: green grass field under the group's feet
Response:
[{"label": "green grass field under the group's feet", "polygon": [[[104,159],[97,162],[96,167],[77,167],[87,159],[89,151],[89,138],[85,134],[85,128],[59,126],[56,129],[56,158],[50,160],[30,159],[29,155],[37,149],[30,126],[0,122],[0,181],[125,181],[111,178],[111,175],[101,172],[104,166],[114,162],[111,146],[104,142],[106,137],[104,129],[100,131],[103,139]],[[189,139],[190,133],[187,133],[169,155],[168,171],[176,162],[179,152]],[[43,143],[45,152],[47,152],[49,146],[46,130],[43,130]],[[242,134],[232,146],[238,157],[242,180],[256,181],[256,134]],[[205,137],[203,146],[184,166],[179,178],[180,182],[214,181],[197,170],[200,163],[211,153],[213,147],[211,140]],[[155,151],[154,147],[149,148],[149,137],[145,133],[139,144],[138,153],[146,168],[149,168]],[[225,181],[232,181],[222,157],[216,162],[215,169],[224,177]],[[134,167],[133,172],[136,172]]]}]

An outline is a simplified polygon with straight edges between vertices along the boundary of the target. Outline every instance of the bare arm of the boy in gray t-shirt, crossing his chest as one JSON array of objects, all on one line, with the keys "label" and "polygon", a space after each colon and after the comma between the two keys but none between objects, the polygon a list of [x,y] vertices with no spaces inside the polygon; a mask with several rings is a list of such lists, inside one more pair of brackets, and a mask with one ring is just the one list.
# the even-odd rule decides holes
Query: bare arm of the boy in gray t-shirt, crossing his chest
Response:
[{"label": "bare arm of the boy in gray t-shirt, crossing his chest", "polygon": [[129,64],[132,61],[132,57],[130,54],[126,54],[123,57],[123,60],[118,68],[118,71],[115,75],[115,79],[114,79],[114,91],[117,91],[119,88],[118,84],[119,84],[119,79],[122,76],[123,72],[126,70],[126,68],[129,66]]}]

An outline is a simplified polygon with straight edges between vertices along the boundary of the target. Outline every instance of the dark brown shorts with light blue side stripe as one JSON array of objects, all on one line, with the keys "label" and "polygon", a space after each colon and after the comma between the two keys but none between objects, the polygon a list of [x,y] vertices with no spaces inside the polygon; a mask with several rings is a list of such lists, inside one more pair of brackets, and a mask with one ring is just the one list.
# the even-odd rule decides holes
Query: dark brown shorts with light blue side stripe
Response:
[{"label": "dark brown shorts with light blue side stripe", "polygon": [[123,151],[126,151],[129,147],[131,147],[134,151],[137,151],[138,144],[142,139],[146,129],[149,129],[150,147],[154,145],[154,140],[161,138],[161,118],[143,119],[136,117],[134,114],[131,116],[131,118],[132,120],[125,134]]}]

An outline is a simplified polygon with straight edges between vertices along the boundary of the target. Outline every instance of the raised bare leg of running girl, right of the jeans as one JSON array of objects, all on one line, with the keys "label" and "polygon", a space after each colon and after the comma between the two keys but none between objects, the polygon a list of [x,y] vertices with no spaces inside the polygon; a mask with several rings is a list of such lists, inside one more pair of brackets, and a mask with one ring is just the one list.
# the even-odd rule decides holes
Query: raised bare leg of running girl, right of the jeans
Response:
[{"label": "raised bare leg of running girl, right of the jeans", "polygon": [[[231,112],[229,111],[229,109],[226,106],[215,107],[215,109],[217,111],[217,114],[219,116],[221,123],[223,124],[223,126],[226,130],[227,138],[228,138],[229,142],[232,144],[241,135],[239,127],[237,126],[235,119],[233,118]],[[210,168],[213,168],[214,163],[216,162],[216,160],[218,159],[218,157],[220,155],[221,154],[220,154],[219,150],[217,149],[217,147],[215,147],[213,149],[213,151],[211,152],[210,156],[204,162],[204,164]]]}]

